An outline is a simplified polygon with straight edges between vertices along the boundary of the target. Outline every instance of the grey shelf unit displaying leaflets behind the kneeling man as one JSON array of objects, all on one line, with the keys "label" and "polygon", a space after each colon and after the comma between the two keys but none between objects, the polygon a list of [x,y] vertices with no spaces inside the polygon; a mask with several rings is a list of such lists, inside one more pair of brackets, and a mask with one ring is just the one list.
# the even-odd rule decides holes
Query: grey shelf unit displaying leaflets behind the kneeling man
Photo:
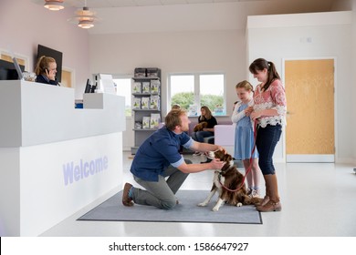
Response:
[{"label": "grey shelf unit displaying leaflets behind the kneeling man", "polygon": [[[144,70],[144,72],[142,71]],[[137,76],[137,72],[140,75]],[[159,68],[135,68],[135,76],[133,80],[133,119],[134,119],[134,146],[131,147],[131,154],[136,154],[137,149],[143,141],[150,137],[154,131],[158,129],[158,124],[161,122],[161,69]],[[157,87],[158,85],[158,87]],[[141,89],[138,88],[141,86]],[[147,89],[149,87],[149,89]],[[158,98],[158,101],[157,101]],[[139,101],[140,103],[137,103]],[[144,101],[144,103],[142,103]],[[151,119],[152,114],[155,115],[155,120]],[[150,117],[150,127],[144,127],[144,118]],[[152,123],[153,121],[153,123]],[[141,128],[138,128],[140,126]],[[156,128],[151,128],[154,126]]]}]

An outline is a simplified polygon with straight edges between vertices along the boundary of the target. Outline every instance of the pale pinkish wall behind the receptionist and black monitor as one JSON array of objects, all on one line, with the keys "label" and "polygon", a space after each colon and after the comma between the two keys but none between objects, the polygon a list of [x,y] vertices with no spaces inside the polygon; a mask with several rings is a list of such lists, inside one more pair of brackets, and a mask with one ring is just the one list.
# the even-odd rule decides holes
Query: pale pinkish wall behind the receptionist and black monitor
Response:
[{"label": "pale pinkish wall behind the receptionist and black monitor", "polygon": [[34,71],[38,44],[61,51],[63,67],[75,72],[76,98],[82,98],[90,76],[89,34],[67,21],[75,11],[70,7],[48,11],[41,1],[1,0],[0,51],[26,57],[27,71]]}]

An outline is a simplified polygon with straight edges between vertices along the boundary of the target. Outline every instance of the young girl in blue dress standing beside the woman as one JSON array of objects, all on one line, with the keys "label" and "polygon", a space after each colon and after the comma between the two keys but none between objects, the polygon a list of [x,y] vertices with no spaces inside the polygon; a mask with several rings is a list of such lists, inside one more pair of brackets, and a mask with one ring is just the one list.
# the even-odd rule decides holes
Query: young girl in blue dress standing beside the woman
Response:
[{"label": "young girl in blue dress standing beside the woman", "polygon": [[234,158],[242,160],[246,171],[250,168],[251,158],[251,170],[246,175],[248,193],[252,197],[259,197],[260,169],[256,148],[251,155],[255,145],[254,125],[250,118],[254,104],[253,87],[244,80],[236,85],[236,94],[240,101],[236,103],[231,117],[233,123],[236,123]]}]

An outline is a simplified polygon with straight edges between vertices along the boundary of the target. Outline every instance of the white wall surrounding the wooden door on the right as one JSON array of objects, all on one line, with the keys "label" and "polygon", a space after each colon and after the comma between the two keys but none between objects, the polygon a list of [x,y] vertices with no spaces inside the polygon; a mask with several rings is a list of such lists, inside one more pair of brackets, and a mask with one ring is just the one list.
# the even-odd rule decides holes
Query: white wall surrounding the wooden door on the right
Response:
[{"label": "white wall surrounding the wooden door on the right", "polygon": [[[280,75],[284,58],[335,57],[336,161],[352,161],[355,127],[351,117],[354,118],[355,104],[351,93],[351,12],[250,16],[247,29],[249,62],[264,57],[276,64]],[[250,80],[254,80],[252,76]],[[276,149],[279,157],[284,156],[282,149]]]}]

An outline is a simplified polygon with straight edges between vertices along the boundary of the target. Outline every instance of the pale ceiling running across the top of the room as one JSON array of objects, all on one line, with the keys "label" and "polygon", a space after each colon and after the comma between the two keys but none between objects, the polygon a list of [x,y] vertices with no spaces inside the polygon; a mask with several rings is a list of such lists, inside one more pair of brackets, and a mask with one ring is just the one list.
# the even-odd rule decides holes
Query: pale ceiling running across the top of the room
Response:
[{"label": "pale ceiling running across the top of the room", "polygon": [[[45,0],[31,0],[44,5]],[[351,10],[352,0],[64,0],[88,6],[99,22],[89,34],[150,33],[246,28],[248,15]]]}]

